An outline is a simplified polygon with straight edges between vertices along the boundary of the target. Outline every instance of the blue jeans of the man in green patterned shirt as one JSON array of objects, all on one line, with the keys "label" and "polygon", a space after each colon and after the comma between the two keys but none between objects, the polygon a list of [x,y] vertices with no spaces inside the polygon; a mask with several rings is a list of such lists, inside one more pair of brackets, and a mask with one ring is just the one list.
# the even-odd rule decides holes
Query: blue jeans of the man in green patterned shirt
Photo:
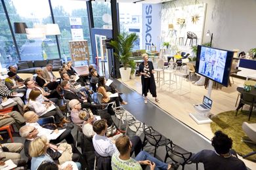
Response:
[{"label": "blue jeans of the man in green patterned shirt", "polygon": [[156,159],[154,156],[148,154],[148,152],[141,151],[135,158],[137,161],[144,161],[144,160],[149,160],[154,163],[156,163],[156,168],[155,169],[167,169],[168,164],[164,163],[163,161],[160,161]]}]

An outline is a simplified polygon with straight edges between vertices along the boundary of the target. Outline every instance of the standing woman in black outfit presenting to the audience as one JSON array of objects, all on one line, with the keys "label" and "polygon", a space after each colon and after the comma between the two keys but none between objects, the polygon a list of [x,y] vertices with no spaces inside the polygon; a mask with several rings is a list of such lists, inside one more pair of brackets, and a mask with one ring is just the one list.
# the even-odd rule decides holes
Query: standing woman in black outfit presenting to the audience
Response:
[{"label": "standing woman in black outfit presenting to the audience", "polygon": [[142,54],[143,62],[140,63],[139,73],[141,75],[142,84],[142,95],[144,95],[144,103],[148,103],[148,90],[155,97],[155,101],[158,102],[159,99],[156,97],[156,82],[154,78],[154,66],[152,61],[148,61],[148,54]]}]

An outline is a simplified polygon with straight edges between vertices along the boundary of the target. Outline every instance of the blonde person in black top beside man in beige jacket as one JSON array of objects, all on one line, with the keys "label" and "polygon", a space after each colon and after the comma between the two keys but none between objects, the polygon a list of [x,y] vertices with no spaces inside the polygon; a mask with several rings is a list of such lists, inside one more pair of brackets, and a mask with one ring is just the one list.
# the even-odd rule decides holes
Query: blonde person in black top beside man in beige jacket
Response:
[{"label": "blonde person in black top beside man in beige jacket", "polygon": [[[56,82],[55,76],[53,78],[49,76],[51,79],[49,79],[48,76],[46,76],[48,79],[45,78],[43,76],[43,70],[41,68],[36,69],[35,73],[37,73],[37,76],[35,77],[35,82],[37,82],[38,86],[40,86],[41,88],[47,87],[49,88],[49,90],[59,90],[59,85],[58,82]],[[51,75],[51,73],[53,72],[50,72],[49,75]]]}]

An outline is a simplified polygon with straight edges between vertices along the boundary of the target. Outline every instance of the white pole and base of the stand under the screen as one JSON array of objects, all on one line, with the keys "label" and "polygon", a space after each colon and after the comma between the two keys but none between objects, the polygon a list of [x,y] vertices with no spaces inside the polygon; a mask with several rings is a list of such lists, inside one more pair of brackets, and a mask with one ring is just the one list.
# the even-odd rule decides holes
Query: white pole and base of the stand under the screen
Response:
[{"label": "white pole and base of the stand under the screen", "polygon": [[[208,93],[207,97],[211,98],[211,90],[213,88],[213,80],[209,80],[209,86],[208,86]],[[196,107],[194,107],[196,109]],[[210,118],[210,110],[206,112],[201,112],[200,110],[196,109],[196,113],[190,113],[189,116],[196,121],[197,124],[210,124],[213,122]]]}]

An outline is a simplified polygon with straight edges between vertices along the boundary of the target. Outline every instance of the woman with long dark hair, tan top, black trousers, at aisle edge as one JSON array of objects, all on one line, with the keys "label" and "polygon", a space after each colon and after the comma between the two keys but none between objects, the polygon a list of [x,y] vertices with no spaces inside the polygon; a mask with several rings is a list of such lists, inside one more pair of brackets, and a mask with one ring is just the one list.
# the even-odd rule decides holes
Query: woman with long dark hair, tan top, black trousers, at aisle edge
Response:
[{"label": "woman with long dark hair, tan top, black trousers, at aisle edge", "polygon": [[[100,78],[98,78],[98,93],[101,93],[103,95],[102,101],[101,101],[102,103],[110,103],[112,101],[116,101],[117,107],[120,106],[120,102],[122,105],[127,105],[127,102],[123,101],[120,95],[118,95],[118,97],[110,97],[111,93],[106,92],[106,89],[104,88],[105,84],[106,84],[106,78],[104,76],[100,76]],[[112,106],[109,105],[108,109],[112,109]]]}]

